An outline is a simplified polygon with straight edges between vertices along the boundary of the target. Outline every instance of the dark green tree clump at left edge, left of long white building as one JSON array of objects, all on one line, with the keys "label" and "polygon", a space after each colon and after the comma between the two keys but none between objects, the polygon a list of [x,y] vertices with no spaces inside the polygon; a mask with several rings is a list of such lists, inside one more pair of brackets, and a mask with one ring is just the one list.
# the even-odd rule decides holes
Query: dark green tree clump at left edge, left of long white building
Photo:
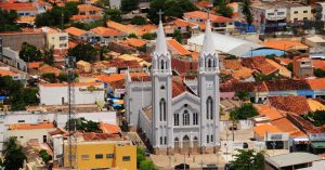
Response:
[{"label": "dark green tree clump at left edge, left of long white building", "polygon": [[11,105],[11,110],[25,110],[26,106],[39,103],[36,88],[24,88],[21,82],[8,76],[0,77],[0,93],[9,97],[4,104]]}]

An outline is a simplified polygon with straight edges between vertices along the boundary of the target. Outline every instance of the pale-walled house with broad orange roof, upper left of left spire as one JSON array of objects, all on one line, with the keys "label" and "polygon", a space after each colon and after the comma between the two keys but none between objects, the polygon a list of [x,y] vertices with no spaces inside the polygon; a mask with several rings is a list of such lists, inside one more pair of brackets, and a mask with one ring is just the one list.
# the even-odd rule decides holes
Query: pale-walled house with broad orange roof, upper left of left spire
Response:
[{"label": "pale-walled house with broad orange roof, upper left of left spire", "polygon": [[106,27],[95,27],[90,29],[90,31],[95,36],[92,42],[98,42],[102,45],[107,45],[112,41],[122,40],[127,36],[118,30]]}]

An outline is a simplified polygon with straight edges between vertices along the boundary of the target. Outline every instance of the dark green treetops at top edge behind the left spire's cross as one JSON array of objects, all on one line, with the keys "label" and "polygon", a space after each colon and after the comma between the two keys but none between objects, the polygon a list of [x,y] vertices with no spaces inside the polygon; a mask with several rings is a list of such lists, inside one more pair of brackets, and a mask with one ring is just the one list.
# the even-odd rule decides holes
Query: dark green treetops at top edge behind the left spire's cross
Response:
[{"label": "dark green treetops at top edge behind the left spire's cross", "polygon": [[159,15],[157,14],[159,10],[164,12],[164,16],[181,18],[185,12],[198,9],[191,0],[152,0],[147,17],[155,24],[159,22]]}]

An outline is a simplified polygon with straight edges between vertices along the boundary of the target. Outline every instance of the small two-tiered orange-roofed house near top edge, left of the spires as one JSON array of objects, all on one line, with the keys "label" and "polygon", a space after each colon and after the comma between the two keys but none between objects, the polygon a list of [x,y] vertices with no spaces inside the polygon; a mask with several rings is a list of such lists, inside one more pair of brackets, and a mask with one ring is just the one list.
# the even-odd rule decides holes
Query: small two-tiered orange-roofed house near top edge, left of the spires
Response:
[{"label": "small two-tiered orange-roofed house near top edge, left of the spires", "polygon": [[79,4],[78,5],[78,14],[72,16],[72,21],[74,22],[83,22],[90,23],[94,21],[99,21],[104,15],[104,10],[91,4]]}]

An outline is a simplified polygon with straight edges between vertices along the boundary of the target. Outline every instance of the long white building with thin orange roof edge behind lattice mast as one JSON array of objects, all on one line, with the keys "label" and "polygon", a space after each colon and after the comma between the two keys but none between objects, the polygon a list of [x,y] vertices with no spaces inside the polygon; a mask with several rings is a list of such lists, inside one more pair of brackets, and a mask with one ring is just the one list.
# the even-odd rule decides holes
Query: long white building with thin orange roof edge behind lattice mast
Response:
[{"label": "long white building with thin orange roof edge behind lattice mast", "polygon": [[[75,104],[95,104],[104,101],[103,82],[75,83]],[[68,102],[67,83],[39,84],[41,105],[64,105]]]}]

